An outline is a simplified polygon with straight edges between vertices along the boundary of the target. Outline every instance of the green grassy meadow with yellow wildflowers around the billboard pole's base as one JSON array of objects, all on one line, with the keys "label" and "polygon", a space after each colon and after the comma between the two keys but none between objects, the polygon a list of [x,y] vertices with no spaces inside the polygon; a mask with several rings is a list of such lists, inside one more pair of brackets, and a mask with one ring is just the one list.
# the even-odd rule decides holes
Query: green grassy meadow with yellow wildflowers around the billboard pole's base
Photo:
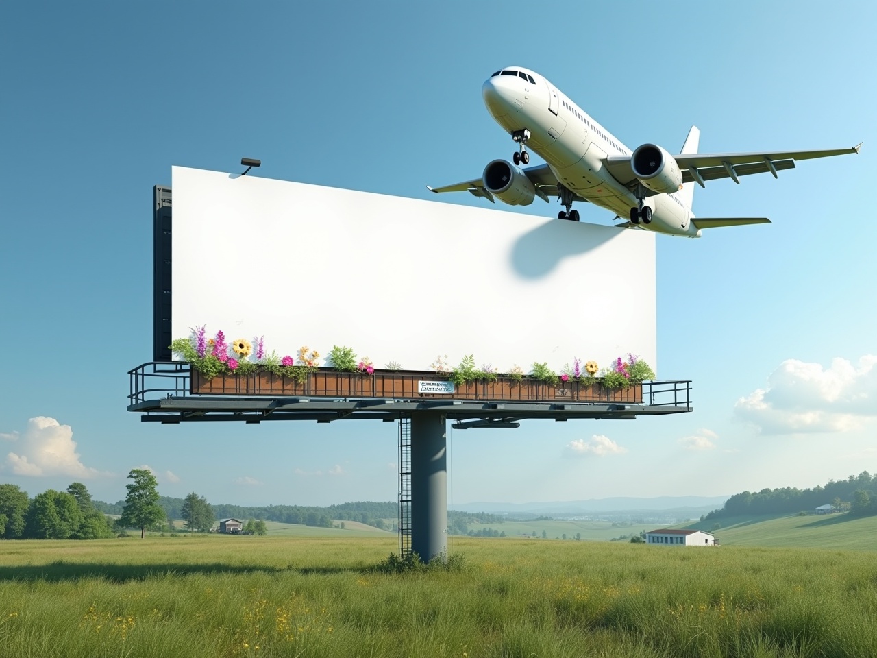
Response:
[{"label": "green grassy meadow with yellow wildflowers around the billboard pole's base", "polygon": [[453,539],[389,574],[385,537],[0,542],[0,655],[877,655],[863,551]]}]

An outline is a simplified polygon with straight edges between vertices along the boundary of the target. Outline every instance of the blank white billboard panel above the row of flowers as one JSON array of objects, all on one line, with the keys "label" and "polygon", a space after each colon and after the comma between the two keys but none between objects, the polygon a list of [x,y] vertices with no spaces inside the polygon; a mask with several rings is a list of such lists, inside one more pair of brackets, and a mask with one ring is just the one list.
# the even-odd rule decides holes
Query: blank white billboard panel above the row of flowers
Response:
[{"label": "blank white billboard panel above the row of flowers", "polygon": [[652,232],[194,168],[172,188],[174,338],[418,370],[632,353],[657,372]]}]

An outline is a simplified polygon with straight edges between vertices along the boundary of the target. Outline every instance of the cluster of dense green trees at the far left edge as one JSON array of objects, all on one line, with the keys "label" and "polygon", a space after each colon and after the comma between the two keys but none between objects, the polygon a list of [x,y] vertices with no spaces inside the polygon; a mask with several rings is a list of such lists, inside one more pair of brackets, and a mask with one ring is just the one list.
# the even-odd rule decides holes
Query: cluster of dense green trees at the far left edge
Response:
[{"label": "cluster of dense green trees at the far left edge", "polygon": [[111,519],[91,503],[82,483],[30,498],[18,484],[0,484],[0,537],[6,540],[97,540],[114,536]]}]

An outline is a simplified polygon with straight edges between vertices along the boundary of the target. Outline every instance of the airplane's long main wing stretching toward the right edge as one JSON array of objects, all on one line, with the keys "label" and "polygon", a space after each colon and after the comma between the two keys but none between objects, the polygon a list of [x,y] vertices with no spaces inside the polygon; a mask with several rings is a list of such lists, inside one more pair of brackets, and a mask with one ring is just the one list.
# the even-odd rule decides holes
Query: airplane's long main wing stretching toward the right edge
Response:
[{"label": "airplane's long main wing stretching toward the right edge", "polygon": [[[768,171],[776,178],[778,171],[795,168],[795,161],[859,153],[861,146],[859,143],[852,148],[837,148],[827,151],[679,154],[673,157],[681,169],[682,182],[696,181],[701,187],[706,187],[704,182],[714,181],[717,178],[731,178],[734,182],[739,182],[739,176],[764,174]],[[603,165],[609,169],[610,174],[618,182],[625,186],[630,187],[637,184],[637,177],[633,175],[629,155],[610,155],[603,160]]]}]

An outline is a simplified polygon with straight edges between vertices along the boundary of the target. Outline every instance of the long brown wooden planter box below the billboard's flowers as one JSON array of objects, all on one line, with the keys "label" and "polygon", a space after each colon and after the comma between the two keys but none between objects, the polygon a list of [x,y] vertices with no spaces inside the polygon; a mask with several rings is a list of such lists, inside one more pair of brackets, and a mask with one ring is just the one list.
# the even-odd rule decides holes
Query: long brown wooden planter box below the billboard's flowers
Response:
[{"label": "long brown wooden planter box below the billboard's flowers", "polygon": [[417,370],[375,370],[374,375],[337,372],[320,368],[303,383],[289,377],[259,372],[253,375],[218,375],[206,379],[191,368],[189,390],[195,395],[272,397],[435,397],[455,400],[521,402],[623,402],[641,404],[643,385],[610,390],[600,383],[559,382],[550,384],[524,378],[520,382],[499,377],[493,382],[467,382],[453,393],[420,393],[418,382],[447,382],[446,376]]}]

